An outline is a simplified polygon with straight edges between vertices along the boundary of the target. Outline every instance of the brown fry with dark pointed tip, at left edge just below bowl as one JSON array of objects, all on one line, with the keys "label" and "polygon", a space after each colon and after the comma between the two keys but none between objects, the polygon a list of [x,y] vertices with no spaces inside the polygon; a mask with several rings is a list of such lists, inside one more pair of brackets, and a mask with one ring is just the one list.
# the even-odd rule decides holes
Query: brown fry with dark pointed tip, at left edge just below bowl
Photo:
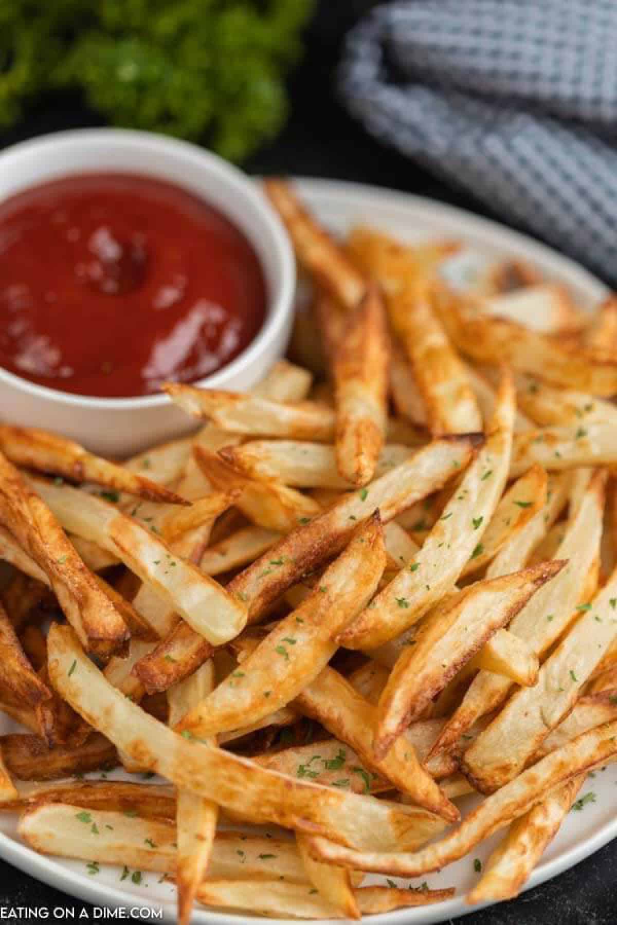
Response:
[{"label": "brown fry with dark pointed tip, at left edge just below bowl", "polygon": [[186,502],[168,488],[137,475],[115,462],[107,462],[79,443],[35,427],[0,425],[0,451],[15,465],[54,473],[73,482],[93,482],[116,493],[125,491],[153,501]]}]

